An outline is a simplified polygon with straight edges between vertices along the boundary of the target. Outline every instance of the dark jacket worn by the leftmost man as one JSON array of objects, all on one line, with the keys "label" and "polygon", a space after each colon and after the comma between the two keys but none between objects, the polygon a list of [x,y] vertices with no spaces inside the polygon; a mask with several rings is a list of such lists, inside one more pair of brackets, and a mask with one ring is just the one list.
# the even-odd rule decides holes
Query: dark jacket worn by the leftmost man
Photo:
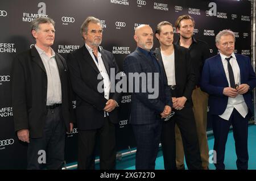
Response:
[{"label": "dark jacket worn by the leftmost man", "polygon": [[[56,53],[61,82],[61,110],[65,127],[74,121],[72,115],[72,91],[68,81],[65,59]],[[43,61],[35,47],[18,54],[11,73],[12,103],[15,131],[29,129],[31,138],[43,135],[47,108],[47,74]]]}]

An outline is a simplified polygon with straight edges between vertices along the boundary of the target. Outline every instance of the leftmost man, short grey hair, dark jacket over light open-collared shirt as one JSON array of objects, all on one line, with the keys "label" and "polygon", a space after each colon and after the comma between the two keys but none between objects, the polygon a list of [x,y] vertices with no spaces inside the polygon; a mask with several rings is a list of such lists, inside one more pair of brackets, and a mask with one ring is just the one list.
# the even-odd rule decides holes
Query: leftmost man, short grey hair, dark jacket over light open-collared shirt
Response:
[{"label": "leftmost man, short grey hair, dark jacket over light open-collared shirt", "polygon": [[61,169],[65,132],[73,129],[67,65],[51,48],[54,25],[48,17],[33,20],[35,47],[18,54],[13,61],[14,127],[19,140],[28,143],[27,169],[43,169],[44,165],[47,169]]}]

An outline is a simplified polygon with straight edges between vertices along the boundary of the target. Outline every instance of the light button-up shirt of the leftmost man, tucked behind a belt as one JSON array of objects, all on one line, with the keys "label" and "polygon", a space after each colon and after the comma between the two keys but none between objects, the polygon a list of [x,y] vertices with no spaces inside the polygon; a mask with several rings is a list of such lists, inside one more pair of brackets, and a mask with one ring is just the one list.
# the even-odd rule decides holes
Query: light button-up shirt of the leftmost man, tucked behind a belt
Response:
[{"label": "light button-up shirt of the leftmost man, tucked behind a belt", "polygon": [[59,69],[55,60],[55,52],[51,48],[52,56],[49,57],[44,50],[35,45],[43,61],[47,75],[47,101],[46,105],[61,104],[61,82]]}]

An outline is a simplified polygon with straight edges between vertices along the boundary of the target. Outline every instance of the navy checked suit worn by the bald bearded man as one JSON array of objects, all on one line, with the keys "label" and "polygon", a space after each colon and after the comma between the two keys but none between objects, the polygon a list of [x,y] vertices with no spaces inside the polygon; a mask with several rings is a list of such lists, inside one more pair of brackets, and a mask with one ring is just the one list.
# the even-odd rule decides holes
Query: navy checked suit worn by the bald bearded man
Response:
[{"label": "navy checked suit worn by the bald bearded man", "polygon": [[[123,69],[128,77],[129,73],[146,73],[148,80],[148,73],[153,74],[152,82],[155,81],[154,73],[159,73],[160,75],[158,85],[152,83],[152,87],[159,88],[158,98],[149,99],[148,95],[150,93],[148,90],[142,92],[142,81],[139,82],[139,85],[133,83],[133,87],[139,87],[139,92],[133,91],[131,94],[130,124],[133,127],[137,142],[136,169],[155,169],[155,159],[162,129],[160,113],[163,112],[164,106],[172,106],[171,92],[167,86],[167,80],[161,66],[156,60],[154,62],[154,59],[152,59],[154,57],[149,54],[150,52],[146,55],[142,51],[137,48],[133,53],[129,54],[125,58]],[[132,83],[132,81],[132,79],[129,79],[129,83]]]}]

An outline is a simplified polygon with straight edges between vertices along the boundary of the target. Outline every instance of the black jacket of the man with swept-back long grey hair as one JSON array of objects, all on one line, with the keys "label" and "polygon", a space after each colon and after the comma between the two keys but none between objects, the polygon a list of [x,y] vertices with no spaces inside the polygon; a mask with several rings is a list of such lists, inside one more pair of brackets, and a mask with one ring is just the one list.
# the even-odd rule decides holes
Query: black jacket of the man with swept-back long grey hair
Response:
[{"label": "black jacket of the man with swept-back long grey hair", "polygon": [[[110,69],[118,73],[118,66],[112,53],[105,49],[100,50],[102,60],[110,78]],[[102,81],[97,79],[98,70],[93,58],[85,45],[69,53],[67,58],[68,69],[71,77],[73,91],[76,99],[77,128],[81,130],[97,129],[104,125],[104,107],[107,99],[104,92],[98,92],[97,86]],[[109,99],[114,99],[118,104],[121,94],[110,92]],[[109,113],[112,123],[118,123],[118,108]]]}]

